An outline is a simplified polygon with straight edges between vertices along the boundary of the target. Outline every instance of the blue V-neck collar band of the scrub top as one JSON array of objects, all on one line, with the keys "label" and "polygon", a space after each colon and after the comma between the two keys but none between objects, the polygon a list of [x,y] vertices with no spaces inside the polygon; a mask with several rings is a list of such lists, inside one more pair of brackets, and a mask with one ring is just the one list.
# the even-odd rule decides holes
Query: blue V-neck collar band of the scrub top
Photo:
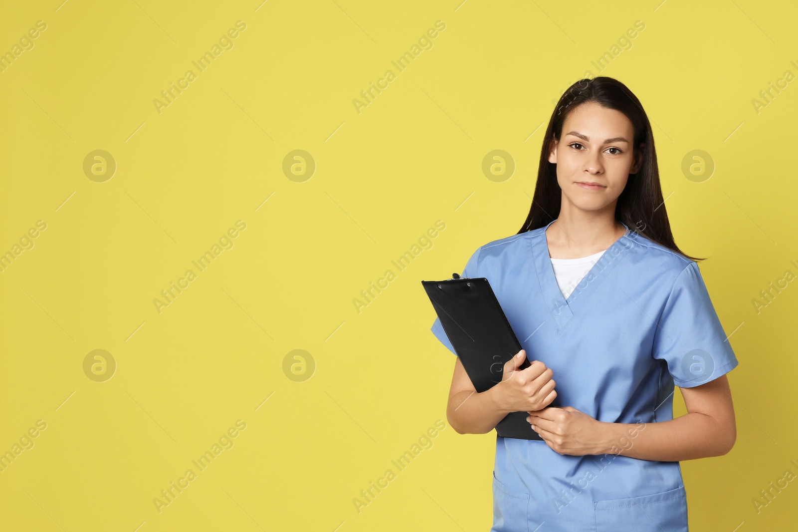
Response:
[{"label": "blue V-neck collar band of the scrub top", "polygon": [[[556,219],[555,219],[556,220]],[[618,237],[609,248],[602,254],[602,256],[593,264],[591,269],[585,274],[579,284],[576,285],[574,291],[568,296],[566,300],[563,297],[563,292],[560,292],[557,278],[554,274],[554,267],[551,265],[551,258],[549,257],[548,244],[546,242],[546,229],[549,225],[553,224],[555,220],[551,220],[545,227],[539,228],[538,234],[531,236],[529,244],[531,247],[532,257],[535,263],[535,271],[538,275],[540,284],[540,292],[546,305],[551,312],[551,316],[557,323],[557,328],[562,331],[571,318],[582,308],[587,299],[595,292],[596,288],[602,284],[606,276],[618,265],[618,263],[626,256],[626,253],[634,247],[634,242],[629,238],[630,228],[628,225],[621,222],[626,232]],[[620,220],[618,220],[620,221]]]}]

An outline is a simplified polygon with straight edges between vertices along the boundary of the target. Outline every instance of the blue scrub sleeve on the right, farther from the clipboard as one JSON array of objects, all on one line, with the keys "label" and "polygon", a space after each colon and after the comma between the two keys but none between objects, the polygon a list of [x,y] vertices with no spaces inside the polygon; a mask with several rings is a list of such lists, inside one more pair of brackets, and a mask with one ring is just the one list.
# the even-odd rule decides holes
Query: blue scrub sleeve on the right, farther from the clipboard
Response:
[{"label": "blue scrub sleeve on the right, farther from the clipboard", "polygon": [[737,367],[737,357],[693,260],[670,291],[652,351],[655,359],[667,363],[674,383],[683,388],[709,383]]}]

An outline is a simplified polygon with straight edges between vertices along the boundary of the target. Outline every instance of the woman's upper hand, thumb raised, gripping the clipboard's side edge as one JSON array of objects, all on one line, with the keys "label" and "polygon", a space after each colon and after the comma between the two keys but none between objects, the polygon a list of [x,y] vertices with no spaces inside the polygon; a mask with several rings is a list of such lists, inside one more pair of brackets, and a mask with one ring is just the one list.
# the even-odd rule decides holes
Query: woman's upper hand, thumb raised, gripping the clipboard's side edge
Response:
[{"label": "woman's upper hand, thumb raised, gripping the clipboard's side edge", "polygon": [[523,349],[504,364],[502,381],[496,384],[501,390],[501,403],[508,412],[526,412],[547,407],[557,396],[552,371],[546,364],[535,360],[523,370],[518,367],[527,358]]}]

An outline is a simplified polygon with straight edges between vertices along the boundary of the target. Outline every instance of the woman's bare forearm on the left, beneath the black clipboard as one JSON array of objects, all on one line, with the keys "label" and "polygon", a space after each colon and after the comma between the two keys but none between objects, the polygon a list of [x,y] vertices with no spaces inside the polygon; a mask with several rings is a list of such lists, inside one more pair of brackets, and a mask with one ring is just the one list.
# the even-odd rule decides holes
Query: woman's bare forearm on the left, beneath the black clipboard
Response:
[{"label": "woman's bare forearm on the left, beneath the black clipboard", "polygon": [[460,434],[487,434],[509,411],[500,407],[498,386],[481,393],[460,391],[448,400],[446,419]]}]

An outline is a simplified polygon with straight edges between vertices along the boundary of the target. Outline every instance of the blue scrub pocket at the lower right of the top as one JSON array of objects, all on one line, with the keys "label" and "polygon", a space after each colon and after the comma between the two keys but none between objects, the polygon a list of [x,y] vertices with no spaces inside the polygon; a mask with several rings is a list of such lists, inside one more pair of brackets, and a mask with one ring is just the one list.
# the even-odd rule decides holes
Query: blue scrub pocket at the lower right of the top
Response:
[{"label": "blue scrub pocket at the lower right of the top", "polygon": [[687,532],[685,486],[653,495],[594,501],[596,532]]}]

